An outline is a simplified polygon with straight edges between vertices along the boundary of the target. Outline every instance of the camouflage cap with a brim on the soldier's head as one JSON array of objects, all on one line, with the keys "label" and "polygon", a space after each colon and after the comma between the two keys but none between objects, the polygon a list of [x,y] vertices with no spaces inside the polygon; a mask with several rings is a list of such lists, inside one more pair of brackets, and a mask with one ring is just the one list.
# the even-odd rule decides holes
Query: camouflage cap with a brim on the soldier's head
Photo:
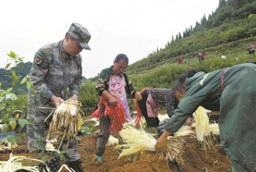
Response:
[{"label": "camouflage cap with a brim on the soldier's head", "polygon": [[68,35],[71,35],[74,39],[76,39],[83,49],[91,50],[88,45],[91,38],[91,33],[89,33],[89,31],[79,23],[72,23],[72,25],[70,25]]}]

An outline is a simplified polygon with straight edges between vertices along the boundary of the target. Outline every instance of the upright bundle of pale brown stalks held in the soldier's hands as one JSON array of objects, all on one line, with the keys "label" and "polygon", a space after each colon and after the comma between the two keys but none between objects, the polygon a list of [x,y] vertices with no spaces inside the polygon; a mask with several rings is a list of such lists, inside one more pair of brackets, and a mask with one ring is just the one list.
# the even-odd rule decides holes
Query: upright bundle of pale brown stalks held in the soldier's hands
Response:
[{"label": "upright bundle of pale brown stalks held in the soldier's hands", "polygon": [[[79,120],[81,119],[80,112],[83,113],[81,109],[78,108],[79,105],[81,105],[81,102],[67,100],[66,102],[62,102],[59,107],[55,109],[48,130],[48,138],[56,135],[56,138],[61,139],[62,143],[64,137],[68,137],[69,143],[70,139],[76,137]],[[61,144],[59,146],[61,146]]]}]

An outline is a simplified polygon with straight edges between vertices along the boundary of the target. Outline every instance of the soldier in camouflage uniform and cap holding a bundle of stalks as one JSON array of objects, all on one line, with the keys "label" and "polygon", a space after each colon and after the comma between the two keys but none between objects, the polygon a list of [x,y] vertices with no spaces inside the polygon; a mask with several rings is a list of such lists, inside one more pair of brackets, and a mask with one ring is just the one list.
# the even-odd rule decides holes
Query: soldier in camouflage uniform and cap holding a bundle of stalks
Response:
[{"label": "soldier in camouflage uniform and cap holding a bundle of stalks", "polygon": [[[65,39],[53,44],[46,44],[35,53],[29,74],[33,83],[28,91],[27,118],[34,126],[27,127],[29,149],[45,149],[46,133],[51,119],[44,120],[61,101],[67,100],[66,90],[70,90],[70,99],[77,101],[82,81],[83,49],[91,50],[88,42],[91,34],[79,23],[72,23]],[[77,152],[77,139],[68,139],[61,144],[60,151],[64,162],[76,172],[83,171],[80,167],[80,155]]]}]

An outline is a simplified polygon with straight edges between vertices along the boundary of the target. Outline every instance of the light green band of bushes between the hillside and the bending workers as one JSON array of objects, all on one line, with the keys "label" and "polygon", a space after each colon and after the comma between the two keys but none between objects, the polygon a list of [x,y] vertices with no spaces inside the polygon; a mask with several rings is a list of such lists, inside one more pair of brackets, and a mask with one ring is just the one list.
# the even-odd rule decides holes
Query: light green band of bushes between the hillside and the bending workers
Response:
[{"label": "light green band of bushes between the hillside and the bending workers", "polygon": [[[239,61],[236,61],[236,56],[239,57]],[[185,60],[183,66],[180,67],[177,63],[166,63],[162,66],[154,68],[152,70],[146,70],[141,74],[131,74],[130,80],[134,87],[138,90],[145,87],[157,88],[171,88],[174,86],[175,81],[182,74],[190,68],[195,68],[198,71],[212,72],[221,68],[227,68],[238,63],[246,63],[246,61],[253,61],[246,53],[227,54],[227,59],[221,59],[221,54],[208,56],[205,61],[200,65],[197,57],[189,60]]]}]

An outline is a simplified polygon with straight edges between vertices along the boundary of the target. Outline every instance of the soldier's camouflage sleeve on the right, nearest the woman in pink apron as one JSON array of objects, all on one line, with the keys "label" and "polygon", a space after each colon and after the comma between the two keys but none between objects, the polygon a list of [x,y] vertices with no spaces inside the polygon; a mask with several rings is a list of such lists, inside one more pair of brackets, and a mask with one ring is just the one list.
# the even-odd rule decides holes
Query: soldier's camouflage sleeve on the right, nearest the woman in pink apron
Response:
[{"label": "soldier's camouflage sleeve on the right, nearest the woman in pink apron", "polygon": [[78,66],[78,72],[74,78],[74,81],[70,84],[70,97],[73,95],[79,96],[80,87],[82,84],[82,58],[79,54],[79,57],[76,60],[77,66]]}]

